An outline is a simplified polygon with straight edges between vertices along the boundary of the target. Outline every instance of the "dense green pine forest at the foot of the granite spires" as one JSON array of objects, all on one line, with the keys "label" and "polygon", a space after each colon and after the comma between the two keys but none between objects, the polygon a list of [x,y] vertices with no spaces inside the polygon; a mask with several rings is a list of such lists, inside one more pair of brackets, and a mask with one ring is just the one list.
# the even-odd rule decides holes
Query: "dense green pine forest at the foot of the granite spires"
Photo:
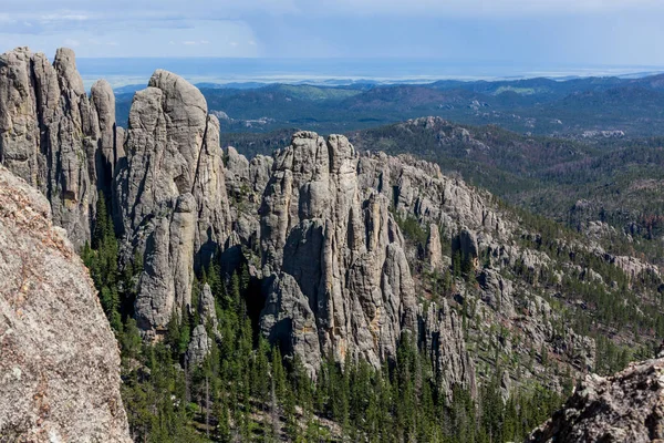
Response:
[{"label": "dense green pine forest at the foot of the granite spires", "polygon": [[[252,324],[246,267],[225,274],[218,262],[196,279],[193,303],[209,285],[219,326],[212,331],[207,323],[216,339],[205,361],[193,367],[187,346],[191,324],[200,319],[196,312],[181,321],[174,317],[163,340],[144,342],[132,318],[132,288],[141,269],[125,266],[118,272],[117,245],[100,194],[93,243],[82,257],[121,347],[123,400],[138,442],[517,441],[558,409],[572,388],[569,380],[567,392],[540,385],[506,398],[497,367],[475,396],[457,389],[448,399],[437,388],[430,359],[407,333],[397,358],[381,370],[326,358],[312,380],[297,357],[284,358],[279,344],[269,346]],[[460,267],[455,272],[460,276]]]}]

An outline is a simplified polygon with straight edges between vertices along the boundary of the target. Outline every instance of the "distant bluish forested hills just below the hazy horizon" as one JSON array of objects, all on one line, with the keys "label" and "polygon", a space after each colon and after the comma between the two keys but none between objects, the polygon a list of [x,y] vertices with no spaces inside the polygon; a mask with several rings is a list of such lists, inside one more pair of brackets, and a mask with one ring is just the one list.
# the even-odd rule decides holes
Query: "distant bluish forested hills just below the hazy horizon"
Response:
[{"label": "distant bluish forested hills just below the hazy horizon", "polygon": [[[622,131],[626,137],[660,135],[664,127],[664,74],[640,79],[556,81],[445,80],[430,84],[350,85],[200,84],[227,132],[268,133],[305,127],[347,132],[426,115],[471,125],[495,124],[518,133],[579,137]],[[117,120],[126,122],[133,86],[120,92]],[[124,94],[129,92],[129,94]],[[121,123],[122,124],[122,123]]]}]

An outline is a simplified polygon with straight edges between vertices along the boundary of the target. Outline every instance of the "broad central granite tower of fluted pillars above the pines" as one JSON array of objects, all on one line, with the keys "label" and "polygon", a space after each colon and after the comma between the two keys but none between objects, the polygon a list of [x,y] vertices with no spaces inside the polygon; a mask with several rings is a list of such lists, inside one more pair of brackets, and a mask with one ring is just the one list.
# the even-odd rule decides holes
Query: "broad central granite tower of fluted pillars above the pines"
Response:
[{"label": "broad central granite tower of fluted pillars above the pines", "polygon": [[390,202],[360,185],[359,161],[345,137],[311,132],[276,155],[261,250],[263,275],[283,275],[268,293],[262,328],[292,336],[295,348],[378,365],[395,356],[401,332],[415,329],[416,301]]}]

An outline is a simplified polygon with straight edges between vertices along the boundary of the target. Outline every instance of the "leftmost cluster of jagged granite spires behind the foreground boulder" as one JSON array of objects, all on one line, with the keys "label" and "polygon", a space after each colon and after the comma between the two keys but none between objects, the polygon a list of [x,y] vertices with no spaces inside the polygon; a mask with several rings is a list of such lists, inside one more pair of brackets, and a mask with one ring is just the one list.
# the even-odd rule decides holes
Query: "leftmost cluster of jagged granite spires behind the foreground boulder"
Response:
[{"label": "leftmost cluster of jagged granite spires behind the foreground boulder", "polygon": [[115,150],[115,100],[95,86],[89,100],[68,49],[53,64],[27,48],[0,56],[0,163],[49,198],[76,248],[90,240],[97,178],[112,173],[101,157]]}]

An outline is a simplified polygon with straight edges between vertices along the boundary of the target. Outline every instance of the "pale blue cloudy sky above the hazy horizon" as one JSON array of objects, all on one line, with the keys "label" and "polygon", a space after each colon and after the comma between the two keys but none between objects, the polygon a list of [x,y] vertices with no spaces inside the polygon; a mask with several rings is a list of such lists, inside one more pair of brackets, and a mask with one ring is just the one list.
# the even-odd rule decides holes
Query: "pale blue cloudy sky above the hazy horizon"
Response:
[{"label": "pale blue cloudy sky above the hazy horizon", "polygon": [[664,65],[663,0],[2,0],[0,51]]}]

